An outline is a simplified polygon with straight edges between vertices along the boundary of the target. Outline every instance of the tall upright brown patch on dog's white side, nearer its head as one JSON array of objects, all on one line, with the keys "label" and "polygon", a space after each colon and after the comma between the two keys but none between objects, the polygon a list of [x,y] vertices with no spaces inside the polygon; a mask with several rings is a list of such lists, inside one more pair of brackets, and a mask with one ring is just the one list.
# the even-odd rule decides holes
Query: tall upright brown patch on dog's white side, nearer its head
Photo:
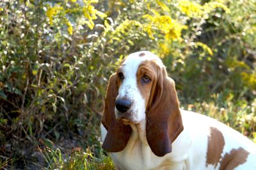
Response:
[{"label": "tall upright brown patch on dog's white side, nearer its head", "polygon": [[218,130],[218,128],[211,127],[210,135],[208,137],[206,166],[212,164],[216,167],[218,165],[224,145],[225,141],[223,134]]}]

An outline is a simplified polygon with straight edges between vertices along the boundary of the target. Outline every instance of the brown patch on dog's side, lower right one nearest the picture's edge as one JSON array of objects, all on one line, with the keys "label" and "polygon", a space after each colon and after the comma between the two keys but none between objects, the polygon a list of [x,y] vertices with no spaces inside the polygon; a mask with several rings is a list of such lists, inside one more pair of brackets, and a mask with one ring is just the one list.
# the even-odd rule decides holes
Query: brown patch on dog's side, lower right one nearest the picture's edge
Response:
[{"label": "brown patch on dog's side, lower right one nearest the picture's edge", "polygon": [[235,167],[244,164],[249,152],[243,148],[233,149],[230,153],[225,153],[220,163],[220,170],[235,169]]}]

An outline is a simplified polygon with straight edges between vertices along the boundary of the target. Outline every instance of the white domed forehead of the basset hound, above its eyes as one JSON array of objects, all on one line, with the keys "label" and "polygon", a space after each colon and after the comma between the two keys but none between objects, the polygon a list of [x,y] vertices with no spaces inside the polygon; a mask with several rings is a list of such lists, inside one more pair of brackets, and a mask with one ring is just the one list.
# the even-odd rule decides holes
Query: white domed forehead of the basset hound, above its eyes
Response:
[{"label": "white domed forehead of the basset hound, above its eyes", "polygon": [[126,73],[129,73],[130,75],[136,75],[136,72],[138,71],[139,66],[144,61],[155,61],[159,66],[163,66],[163,63],[160,58],[156,56],[156,54],[153,54],[149,51],[139,51],[134,52],[127,56],[125,59],[122,70]]}]

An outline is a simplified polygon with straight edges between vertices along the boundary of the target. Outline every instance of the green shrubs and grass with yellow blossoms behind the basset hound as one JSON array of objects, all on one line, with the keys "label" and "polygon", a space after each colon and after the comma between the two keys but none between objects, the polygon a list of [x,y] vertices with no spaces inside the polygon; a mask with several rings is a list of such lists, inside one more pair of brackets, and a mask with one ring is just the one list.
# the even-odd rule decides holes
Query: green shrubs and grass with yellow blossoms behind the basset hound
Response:
[{"label": "green shrubs and grass with yellow blossoms behind the basset hound", "polygon": [[256,2],[0,1],[0,169],[113,169],[100,147],[108,77],[160,56],[180,105],[256,142]]}]

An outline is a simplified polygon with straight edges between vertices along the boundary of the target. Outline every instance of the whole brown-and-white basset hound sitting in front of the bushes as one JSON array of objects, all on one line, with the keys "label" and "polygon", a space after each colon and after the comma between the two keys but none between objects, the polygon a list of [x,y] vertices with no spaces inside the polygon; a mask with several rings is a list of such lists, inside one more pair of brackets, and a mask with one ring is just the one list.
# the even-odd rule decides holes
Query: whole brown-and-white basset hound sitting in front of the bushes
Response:
[{"label": "whole brown-and-white basset hound sitting in front of the bushes", "polygon": [[148,51],[130,54],[111,75],[101,131],[116,169],[256,169],[256,144],[179,109],[174,81]]}]

